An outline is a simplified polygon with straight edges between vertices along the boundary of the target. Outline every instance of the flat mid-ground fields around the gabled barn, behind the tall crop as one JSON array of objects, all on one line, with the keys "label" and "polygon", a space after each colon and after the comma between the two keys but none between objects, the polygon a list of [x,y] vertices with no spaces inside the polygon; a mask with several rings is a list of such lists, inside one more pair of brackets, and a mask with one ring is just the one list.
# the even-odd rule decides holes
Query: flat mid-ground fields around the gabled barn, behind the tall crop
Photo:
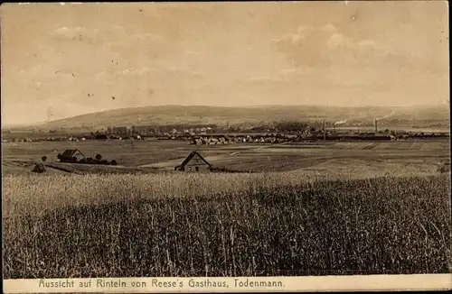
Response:
[{"label": "flat mid-ground fields around the gabled barn, behind the tall crop", "polygon": [[[33,161],[47,156],[49,165],[65,149],[80,149],[87,157],[101,153],[108,161],[116,160],[127,171],[174,170],[193,150],[198,149],[216,167],[247,171],[312,170],[330,174],[349,167],[350,172],[400,172],[411,174],[436,170],[438,161],[449,157],[447,140],[408,142],[315,142],[291,144],[231,144],[194,146],[177,141],[87,141],[23,142],[2,145],[5,174],[28,174]],[[385,164],[388,163],[388,164]],[[69,170],[124,172],[125,168],[62,165]],[[139,167],[139,168],[138,168]],[[56,172],[56,171],[52,171]]]}]

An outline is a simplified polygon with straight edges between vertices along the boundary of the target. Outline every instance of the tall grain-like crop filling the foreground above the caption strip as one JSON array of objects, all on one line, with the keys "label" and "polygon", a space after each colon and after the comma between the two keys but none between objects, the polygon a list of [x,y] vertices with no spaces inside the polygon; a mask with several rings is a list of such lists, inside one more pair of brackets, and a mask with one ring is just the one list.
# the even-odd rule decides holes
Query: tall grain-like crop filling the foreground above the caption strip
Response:
[{"label": "tall grain-like crop filling the foreground above the caption strip", "polygon": [[449,176],[4,177],[5,279],[450,272]]}]

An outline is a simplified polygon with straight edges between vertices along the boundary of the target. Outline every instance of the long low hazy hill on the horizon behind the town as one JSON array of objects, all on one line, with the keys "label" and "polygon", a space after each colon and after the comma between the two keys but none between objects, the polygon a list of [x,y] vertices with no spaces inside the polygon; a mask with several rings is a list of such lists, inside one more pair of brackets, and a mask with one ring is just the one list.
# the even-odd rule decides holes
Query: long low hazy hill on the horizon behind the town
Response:
[{"label": "long low hazy hill on the horizon behind the town", "polygon": [[78,115],[42,124],[41,127],[108,127],[113,125],[163,124],[259,124],[282,120],[335,122],[355,120],[372,124],[377,117],[410,121],[449,121],[445,106],[385,107],[385,106],[145,106]]}]

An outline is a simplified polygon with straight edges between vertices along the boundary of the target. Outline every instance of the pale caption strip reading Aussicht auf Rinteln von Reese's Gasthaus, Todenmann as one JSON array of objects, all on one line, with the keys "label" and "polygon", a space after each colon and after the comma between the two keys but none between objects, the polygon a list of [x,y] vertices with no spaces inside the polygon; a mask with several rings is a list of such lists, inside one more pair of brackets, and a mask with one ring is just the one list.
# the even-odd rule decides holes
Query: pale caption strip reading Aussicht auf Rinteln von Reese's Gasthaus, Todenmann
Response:
[{"label": "pale caption strip reading Aussicht auf Rinteln von Reese's Gasthaus, Todenmann", "polygon": [[[97,287],[97,280],[124,282],[126,287]],[[189,286],[191,281],[192,287]],[[209,280],[211,287],[193,287],[193,282]],[[236,280],[244,282],[281,282],[282,287],[236,287]],[[73,287],[40,287],[42,281],[73,282]],[[90,287],[80,287],[80,282]],[[154,285],[153,285],[154,281]],[[161,286],[157,287],[155,281]],[[146,287],[132,287],[132,282],[146,283]],[[181,287],[182,282],[182,287]],[[227,287],[212,286],[213,283],[226,283]],[[50,284],[48,284],[50,285]],[[124,284],[123,284],[124,285]],[[91,278],[91,279],[20,279],[4,280],[4,293],[65,293],[65,292],[120,292],[120,293],[189,293],[189,292],[269,292],[269,291],[357,291],[357,290],[427,290],[452,289],[452,274],[413,274],[413,275],[356,275],[319,277],[237,277],[237,278]]]}]

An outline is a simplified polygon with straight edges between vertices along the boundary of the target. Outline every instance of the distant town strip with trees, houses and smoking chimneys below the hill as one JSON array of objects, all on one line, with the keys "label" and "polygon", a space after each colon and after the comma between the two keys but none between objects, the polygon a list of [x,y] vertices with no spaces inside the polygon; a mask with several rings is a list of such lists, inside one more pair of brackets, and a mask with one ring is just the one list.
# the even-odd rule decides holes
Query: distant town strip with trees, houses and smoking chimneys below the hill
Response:
[{"label": "distant town strip with trees, houses and smoking chimneys below the hill", "polygon": [[[36,132],[34,132],[36,133]],[[138,125],[111,126],[96,132],[68,134],[58,130],[38,131],[39,135],[23,138],[3,139],[2,142],[37,142],[37,141],[86,141],[86,140],[179,140],[195,145],[214,145],[228,143],[278,143],[303,142],[318,140],[410,140],[414,138],[448,137],[449,133],[413,133],[378,129],[375,121],[373,132],[360,130],[339,131],[334,124],[325,127],[302,123],[280,124],[277,127],[221,128],[216,125],[184,127],[180,125]]]}]

